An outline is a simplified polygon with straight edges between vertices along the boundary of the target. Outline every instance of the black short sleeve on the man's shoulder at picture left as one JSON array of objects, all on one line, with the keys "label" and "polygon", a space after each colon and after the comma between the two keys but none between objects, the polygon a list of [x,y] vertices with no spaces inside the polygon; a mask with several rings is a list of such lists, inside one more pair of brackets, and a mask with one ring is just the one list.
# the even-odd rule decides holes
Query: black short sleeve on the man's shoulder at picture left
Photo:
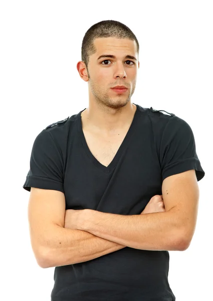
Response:
[{"label": "black short sleeve on the man's shoulder at picture left", "polygon": [[35,139],[30,170],[23,188],[31,191],[31,187],[58,190],[63,188],[63,158],[51,133],[43,130]]}]

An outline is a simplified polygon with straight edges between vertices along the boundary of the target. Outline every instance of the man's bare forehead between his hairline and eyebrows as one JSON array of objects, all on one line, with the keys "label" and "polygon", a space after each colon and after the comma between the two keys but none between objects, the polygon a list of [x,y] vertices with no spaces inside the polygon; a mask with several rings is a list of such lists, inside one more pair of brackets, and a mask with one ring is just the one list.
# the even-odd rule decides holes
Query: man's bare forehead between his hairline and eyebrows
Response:
[{"label": "man's bare forehead between his hairline and eyebrows", "polygon": [[137,44],[134,40],[130,39],[118,39],[114,37],[109,38],[96,38],[94,40],[94,46],[96,48],[95,56],[101,55],[106,51],[122,51],[125,54],[137,53]]}]

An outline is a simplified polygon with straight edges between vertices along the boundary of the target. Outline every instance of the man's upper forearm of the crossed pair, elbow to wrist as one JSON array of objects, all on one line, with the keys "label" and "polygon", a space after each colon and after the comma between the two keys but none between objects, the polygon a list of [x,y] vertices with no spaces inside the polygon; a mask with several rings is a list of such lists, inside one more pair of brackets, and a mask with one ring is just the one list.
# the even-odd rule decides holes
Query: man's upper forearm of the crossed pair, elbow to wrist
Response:
[{"label": "man's upper forearm of the crossed pair, elbow to wrist", "polygon": [[183,229],[172,211],[118,215],[90,210],[81,230],[141,250],[182,250]]}]

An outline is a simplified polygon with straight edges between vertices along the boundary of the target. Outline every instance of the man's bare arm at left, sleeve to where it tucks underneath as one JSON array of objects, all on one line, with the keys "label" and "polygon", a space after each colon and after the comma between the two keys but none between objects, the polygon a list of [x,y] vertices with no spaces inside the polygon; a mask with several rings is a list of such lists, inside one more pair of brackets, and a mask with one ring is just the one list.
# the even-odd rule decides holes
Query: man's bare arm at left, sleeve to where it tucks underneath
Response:
[{"label": "man's bare arm at left, sleeve to where it tucks underneath", "polygon": [[28,216],[32,248],[43,268],[84,262],[125,248],[82,230],[64,228],[65,196],[60,191],[32,187]]}]

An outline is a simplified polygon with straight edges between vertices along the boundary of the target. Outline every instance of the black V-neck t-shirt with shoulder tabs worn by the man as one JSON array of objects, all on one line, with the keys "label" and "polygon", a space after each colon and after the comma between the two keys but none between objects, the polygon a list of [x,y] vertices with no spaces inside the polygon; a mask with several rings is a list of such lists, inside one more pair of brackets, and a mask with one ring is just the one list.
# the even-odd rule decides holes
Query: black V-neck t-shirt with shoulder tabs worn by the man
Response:
[{"label": "black V-neck t-shirt with shoulder tabs worn by the man", "polygon": [[[81,112],[42,130],[35,139],[23,186],[58,190],[66,209],[140,214],[161,195],[166,177],[194,169],[204,177],[193,132],[186,121],[137,105],[112,162],[92,155]],[[171,301],[168,251],[125,247],[93,260],[55,267],[52,301]]]}]

